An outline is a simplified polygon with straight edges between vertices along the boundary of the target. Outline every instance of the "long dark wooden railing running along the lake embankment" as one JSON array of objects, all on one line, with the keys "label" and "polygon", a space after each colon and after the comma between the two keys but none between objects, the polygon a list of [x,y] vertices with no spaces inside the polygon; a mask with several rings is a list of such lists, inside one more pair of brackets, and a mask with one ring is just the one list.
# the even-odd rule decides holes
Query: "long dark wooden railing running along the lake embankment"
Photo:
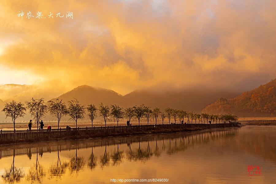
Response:
[{"label": "long dark wooden railing running along the lake embankment", "polygon": [[185,128],[219,128],[238,126],[237,123],[217,124],[164,124],[164,125],[133,125],[133,126],[107,126],[107,127],[78,127],[78,128],[52,128],[51,130],[1,130],[0,144],[10,141],[34,140],[44,138],[61,138],[75,135],[116,135],[131,134],[132,132],[147,132],[151,130],[185,129]]}]

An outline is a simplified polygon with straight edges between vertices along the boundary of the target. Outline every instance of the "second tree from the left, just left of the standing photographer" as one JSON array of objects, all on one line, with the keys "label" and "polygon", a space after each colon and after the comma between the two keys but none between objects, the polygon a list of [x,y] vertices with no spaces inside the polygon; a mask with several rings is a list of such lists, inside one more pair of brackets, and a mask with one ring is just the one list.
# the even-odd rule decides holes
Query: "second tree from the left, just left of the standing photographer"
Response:
[{"label": "second tree from the left, just left of the standing photographer", "polygon": [[36,128],[38,130],[38,122],[41,117],[44,117],[47,113],[47,105],[45,105],[44,98],[32,100],[30,102],[26,102],[26,105],[29,109],[31,117],[36,118]]}]

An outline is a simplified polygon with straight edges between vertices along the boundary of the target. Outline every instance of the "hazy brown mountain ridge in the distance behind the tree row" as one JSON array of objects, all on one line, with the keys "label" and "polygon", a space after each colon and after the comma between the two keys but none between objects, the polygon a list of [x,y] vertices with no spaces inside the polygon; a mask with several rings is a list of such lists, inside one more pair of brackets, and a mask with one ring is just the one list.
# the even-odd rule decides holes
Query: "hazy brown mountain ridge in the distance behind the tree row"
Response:
[{"label": "hazy brown mountain ridge in the distance behind the tree row", "polygon": [[84,105],[94,103],[98,106],[102,102],[106,105],[117,104],[122,107],[131,107],[144,103],[152,108],[159,107],[165,109],[167,107],[172,107],[185,109],[187,111],[201,112],[201,109],[214,102],[220,96],[232,98],[236,95],[236,93],[222,90],[214,91],[211,89],[193,88],[170,92],[140,90],[122,96],[112,90],[83,85],[68,91],[58,98],[62,99],[64,102],[76,98]]}]

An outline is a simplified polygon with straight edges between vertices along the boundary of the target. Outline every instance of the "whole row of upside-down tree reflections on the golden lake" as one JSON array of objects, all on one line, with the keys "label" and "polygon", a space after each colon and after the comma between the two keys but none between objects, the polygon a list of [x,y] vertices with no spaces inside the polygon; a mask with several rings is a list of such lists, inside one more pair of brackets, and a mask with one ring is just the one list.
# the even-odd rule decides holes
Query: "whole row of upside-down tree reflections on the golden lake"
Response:
[{"label": "whole row of upside-down tree reflections on the golden lake", "polygon": [[[76,174],[82,170],[82,169],[98,169],[97,168],[97,156],[100,158],[100,161],[98,165],[103,169],[105,166],[109,166],[109,163],[112,162],[112,166],[119,165],[122,162],[124,162],[124,159],[127,159],[128,161],[141,161],[146,162],[148,159],[150,159],[153,155],[156,157],[159,157],[161,154],[169,154],[172,155],[178,151],[185,151],[189,147],[193,147],[197,144],[209,144],[210,142],[214,140],[219,140],[220,137],[229,138],[230,136],[235,136],[235,134],[238,132],[238,129],[228,129],[228,130],[219,130],[219,131],[205,131],[205,132],[191,132],[191,133],[181,133],[181,134],[168,134],[168,135],[154,135],[154,136],[130,136],[127,138],[108,138],[108,141],[101,141],[101,142],[94,142],[91,140],[81,140],[77,144],[77,146],[81,146],[81,148],[92,148],[92,152],[87,154],[90,155],[89,159],[87,160],[88,163],[86,164],[86,167],[84,168],[84,164],[86,160],[81,156],[78,156],[78,148],[76,148],[74,151],[73,157],[69,159],[69,161],[66,162],[66,160],[62,160],[62,158],[59,157],[59,152],[61,150],[69,150],[72,146],[71,143],[68,143],[68,145],[63,146],[62,144],[58,143],[57,146],[43,146],[43,147],[37,147],[36,148],[36,162],[33,159],[33,166],[29,169],[29,172],[26,173],[26,180],[33,182],[41,183],[44,176],[46,176],[46,173],[44,172],[44,167],[42,167],[38,160],[38,155],[43,155],[44,148],[48,148],[47,152],[51,151],[51,149],[57,150],[57,160],[54,163],[51,163],[49,167],[47,167],[47,177],[49,179],[56,177],[56,178],[62,178],[66,174],[66,170],[68,168],[69,171],[71,171],[70,174],[75,172]],[[119,141],[120,140],[120,141]],[[83,141],[83,142],[82,142]],[[97,140],[98,141],[98,140]],[[107,146],[110,145],[110,142],[114,146],[114,151],[109,154],[107,151]],[[116,143],[115,143],[116,142]],[[124,144],[119,148],[118,142],[125,142],[124,144],[128,147],[124,150]],[[151,142],[151,143],[149,143]],[[97,143],[99,145],[105,145],[105,151],[103,155],[95,155],[95,149],[97,146],[94,146],[94,144]],[[117,148],[116,148],[117,144]],[[52,145],[52,143],[51,143]],[[161,147],[162,145],[162,147]],[[151,149],[152,147],[152,149]],[[162,149],[161,149],[162,148]],[[100,148],[99,148],[100,149]],[[34,148],[27,148],[22,149],[22,151],[25,155],[28,156],[29,159],[32,159],[34,152],[32,153],[32,150],[35,151]],[[83,150],[84,151],[84,150]],[[94,151],[94,152],[93,152]],[[19,151],[18,151],[19,152]],[[103,150],[102,150],[103,152]],[[56,154],[56,153],[54,153]],[[10,152],[10,156],[12,155],[12,152]],[[44,156],[44,155],[43,155]],[[14,182],[20,182],[20,179],[25,176],[24,170],[21,168],[17,168],[14,166],[14,157],[15,157],[15,149],[13,150],[13,163],[11,168],[5,169],[4,173],[1,175],[3,180],[7,183],[14,183]],[[28,159],[28,160],[29,160]],[[40,160],[41,162],[41,160]]]}]

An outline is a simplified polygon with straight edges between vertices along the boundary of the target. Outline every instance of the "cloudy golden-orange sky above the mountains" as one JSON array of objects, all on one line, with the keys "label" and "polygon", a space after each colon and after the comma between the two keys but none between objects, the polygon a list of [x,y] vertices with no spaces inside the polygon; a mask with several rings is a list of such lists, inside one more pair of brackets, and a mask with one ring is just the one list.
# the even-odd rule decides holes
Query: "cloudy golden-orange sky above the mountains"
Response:
[{"label": "cloudy golden-orange sky above the mountains", "polygon": [[0,84],[250,90],[276,78],[275,9],[272,0],[2,0]]}]

